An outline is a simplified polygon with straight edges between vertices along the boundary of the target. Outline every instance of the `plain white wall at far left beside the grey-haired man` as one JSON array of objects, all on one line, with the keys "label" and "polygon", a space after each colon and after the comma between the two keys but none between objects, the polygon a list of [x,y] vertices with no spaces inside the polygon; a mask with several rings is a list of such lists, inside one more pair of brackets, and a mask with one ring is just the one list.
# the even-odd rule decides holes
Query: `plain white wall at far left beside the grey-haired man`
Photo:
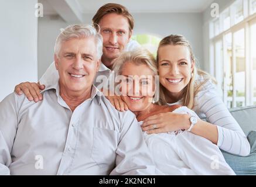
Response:
[{"label": "plain white wall at far left beside the grey-haired man", "polygon": [[0,0],[0,101],[16,84],[37,81],[37,0]]}]

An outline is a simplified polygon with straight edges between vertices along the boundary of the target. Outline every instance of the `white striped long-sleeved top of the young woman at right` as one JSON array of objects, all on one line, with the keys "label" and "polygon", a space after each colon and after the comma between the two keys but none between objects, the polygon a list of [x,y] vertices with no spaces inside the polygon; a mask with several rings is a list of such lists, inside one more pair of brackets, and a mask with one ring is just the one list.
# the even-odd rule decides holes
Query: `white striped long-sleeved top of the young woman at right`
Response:
[{"label": "white striped long-sleeved top of the young woman at right", "polygon": [[[199,85],[205,81],[202,75],[197,75],[196,84]],[[182,101],[168,105],[182,104]],[[199,117],[206,116],[211,124],[215,124],[218,129],[217,146],[221,150],[231,154],[248,155],[251,146],[243,130],[230,114],[227,107],[221,100],[216,85],[208,79],[201,87],[194,98],[193,110]]]}]

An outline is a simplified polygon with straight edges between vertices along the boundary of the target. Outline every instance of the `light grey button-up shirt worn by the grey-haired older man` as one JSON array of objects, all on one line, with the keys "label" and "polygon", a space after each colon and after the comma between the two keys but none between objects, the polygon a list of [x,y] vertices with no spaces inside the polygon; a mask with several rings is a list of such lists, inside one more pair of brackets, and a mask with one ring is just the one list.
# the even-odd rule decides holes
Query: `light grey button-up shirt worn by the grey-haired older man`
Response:
[{"label": "light grey button-up shirt worn by the grey-haired older man", "polygon": [[37,103],[16,93],[0,103],[0,174],[155,174],[132,112],[115,110],[95,86],[74,112],[59,83],[42,93]]}]

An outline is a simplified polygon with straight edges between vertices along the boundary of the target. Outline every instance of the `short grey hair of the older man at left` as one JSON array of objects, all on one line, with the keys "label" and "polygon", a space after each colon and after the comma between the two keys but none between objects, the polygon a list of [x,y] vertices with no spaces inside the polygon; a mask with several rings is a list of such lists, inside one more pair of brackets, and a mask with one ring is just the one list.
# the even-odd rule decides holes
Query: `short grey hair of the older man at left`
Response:
[{"label": "short grey hair of the older man at left", "polygon": [[[97,50],[97,58],[101,58],[103,54],[103,37],[97,30],[91,25],[70,25],[67,26],[66,29],[61,29],[61,33],[56,39],[54,46],[54,53],[59,58],[60,47],[64,41],[77,38],[81,39],[83,37],[94,37],[96,50]],[[90,46],[88,46],[90,47]]]}]

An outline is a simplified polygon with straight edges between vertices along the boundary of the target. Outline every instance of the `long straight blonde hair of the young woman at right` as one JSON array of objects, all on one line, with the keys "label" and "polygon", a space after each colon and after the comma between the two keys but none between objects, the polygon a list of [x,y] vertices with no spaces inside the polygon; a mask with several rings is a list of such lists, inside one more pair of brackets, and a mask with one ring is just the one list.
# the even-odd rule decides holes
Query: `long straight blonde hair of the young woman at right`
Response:
[{"label": "long straight blonde hair of the young woman at right", "polygon": [[[195,98],[196,94],[200,91],[200,88],[202,87],[202,85],[209,79],[211,81],[213,81],[214,84],[217,84],[217,82],[216,82],[215,78],[213,78],[207,72],[204,72],[199,69],[197,70],[196,58],[194,57],[192,47],[191,47],[189,41],[187,41],[186,38],[182,35],[171,34],[170,36],[167,36],[160,41],[159,46],[158,46],[157,56],[156,56],[157,63],[159,63],[159,49],[162,46],[168,46],[168,45],[186,46],[189,49],[191,60],[194,63],[194,68],[192,70],[193,76],[190,78],[190,81],[185,86],[185,88],[183,88],[181,94],[182,94],[182,105],[187,106],[187,108],[189,108],[189,109],[192,109],[194,106],[194,98]],[[196,82],[195,82],[196,75],[203,75],[204,81],[201,82],[200,84],[196,84]],[[169,92],[169,91],[166,90],[166,88],[164,88],[162,85],[160,85],[160,93],[159,93],[160,101],[159,102],[161,103],[161,105],[166,105],[166,103],[167,103],[167,101],[166,101],[167,92]]]}]

